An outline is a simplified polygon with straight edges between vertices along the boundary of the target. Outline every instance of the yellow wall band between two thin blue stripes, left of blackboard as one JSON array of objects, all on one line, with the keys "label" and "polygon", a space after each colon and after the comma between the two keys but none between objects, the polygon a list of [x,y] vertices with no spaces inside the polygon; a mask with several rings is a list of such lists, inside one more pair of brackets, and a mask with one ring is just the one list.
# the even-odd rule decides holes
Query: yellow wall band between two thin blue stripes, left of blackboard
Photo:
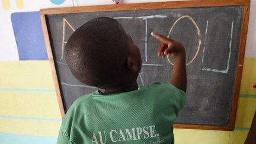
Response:
[{"label": "yellow wall band between two thin blue stripes, left of blackboard", "polygon": [[61,119],[55,92],[1,91],[0,116]]}]

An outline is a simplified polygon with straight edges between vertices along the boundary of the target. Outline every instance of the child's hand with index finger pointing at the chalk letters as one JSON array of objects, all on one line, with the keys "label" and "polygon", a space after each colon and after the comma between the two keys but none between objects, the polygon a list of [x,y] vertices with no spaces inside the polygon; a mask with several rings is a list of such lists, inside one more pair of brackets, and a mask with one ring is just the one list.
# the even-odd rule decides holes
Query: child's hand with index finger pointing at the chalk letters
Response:
[{"label": "child's hand with index finger pointing at the chalk letters", "polygon": [[164,58],[165,56],[169,57],[171,55],[185,53],[183,45],[178,41],[153,32],[151,35],[161,41],[161,44],[158,46],[158,56],[162,56],[162,58]]}]

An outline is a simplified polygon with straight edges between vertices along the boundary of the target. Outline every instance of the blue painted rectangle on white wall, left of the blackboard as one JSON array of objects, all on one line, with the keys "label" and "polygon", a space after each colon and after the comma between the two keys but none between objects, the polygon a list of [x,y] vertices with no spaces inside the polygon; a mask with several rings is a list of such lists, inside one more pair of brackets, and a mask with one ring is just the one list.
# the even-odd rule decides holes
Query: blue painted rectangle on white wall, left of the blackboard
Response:
[{"label": "blue painted rectangle on white wall, left of the blackboard", "polygon": [[20,60],[48,60],[39,11],[12,13],[11,21]]}]

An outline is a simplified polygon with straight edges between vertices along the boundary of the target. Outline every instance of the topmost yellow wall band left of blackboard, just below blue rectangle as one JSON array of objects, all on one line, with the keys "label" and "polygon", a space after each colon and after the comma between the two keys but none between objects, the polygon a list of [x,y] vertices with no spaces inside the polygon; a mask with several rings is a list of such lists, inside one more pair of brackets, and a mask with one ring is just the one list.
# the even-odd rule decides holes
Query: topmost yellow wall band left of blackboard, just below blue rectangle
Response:
[{"label": "topmost yellow wall band left of blackboard, just below blue rectangle", "polygon": [[49,60],[0,62],[0,88],[55,89]]}]

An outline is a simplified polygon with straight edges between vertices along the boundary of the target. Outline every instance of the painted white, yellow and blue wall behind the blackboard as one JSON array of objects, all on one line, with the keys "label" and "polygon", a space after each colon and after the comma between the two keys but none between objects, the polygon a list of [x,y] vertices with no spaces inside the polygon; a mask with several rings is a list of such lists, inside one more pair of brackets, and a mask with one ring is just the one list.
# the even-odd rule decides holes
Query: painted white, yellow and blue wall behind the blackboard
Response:
[{"label": "painted white, yellow and blue wall behind the blackboard", "polygon": [[[147,0],[153,2],[158,0]],[[126,0],[126,3],[142,2]],[[61,116],[41,31],[40,8],[114,4],[112,1],[2,0],[0,3],[0,143],[56,143]],[[243,143],[256,110],[256,0],[233,132],[175,129],[175,143]],[[256,87],[256,86],[255,86]]]}]

